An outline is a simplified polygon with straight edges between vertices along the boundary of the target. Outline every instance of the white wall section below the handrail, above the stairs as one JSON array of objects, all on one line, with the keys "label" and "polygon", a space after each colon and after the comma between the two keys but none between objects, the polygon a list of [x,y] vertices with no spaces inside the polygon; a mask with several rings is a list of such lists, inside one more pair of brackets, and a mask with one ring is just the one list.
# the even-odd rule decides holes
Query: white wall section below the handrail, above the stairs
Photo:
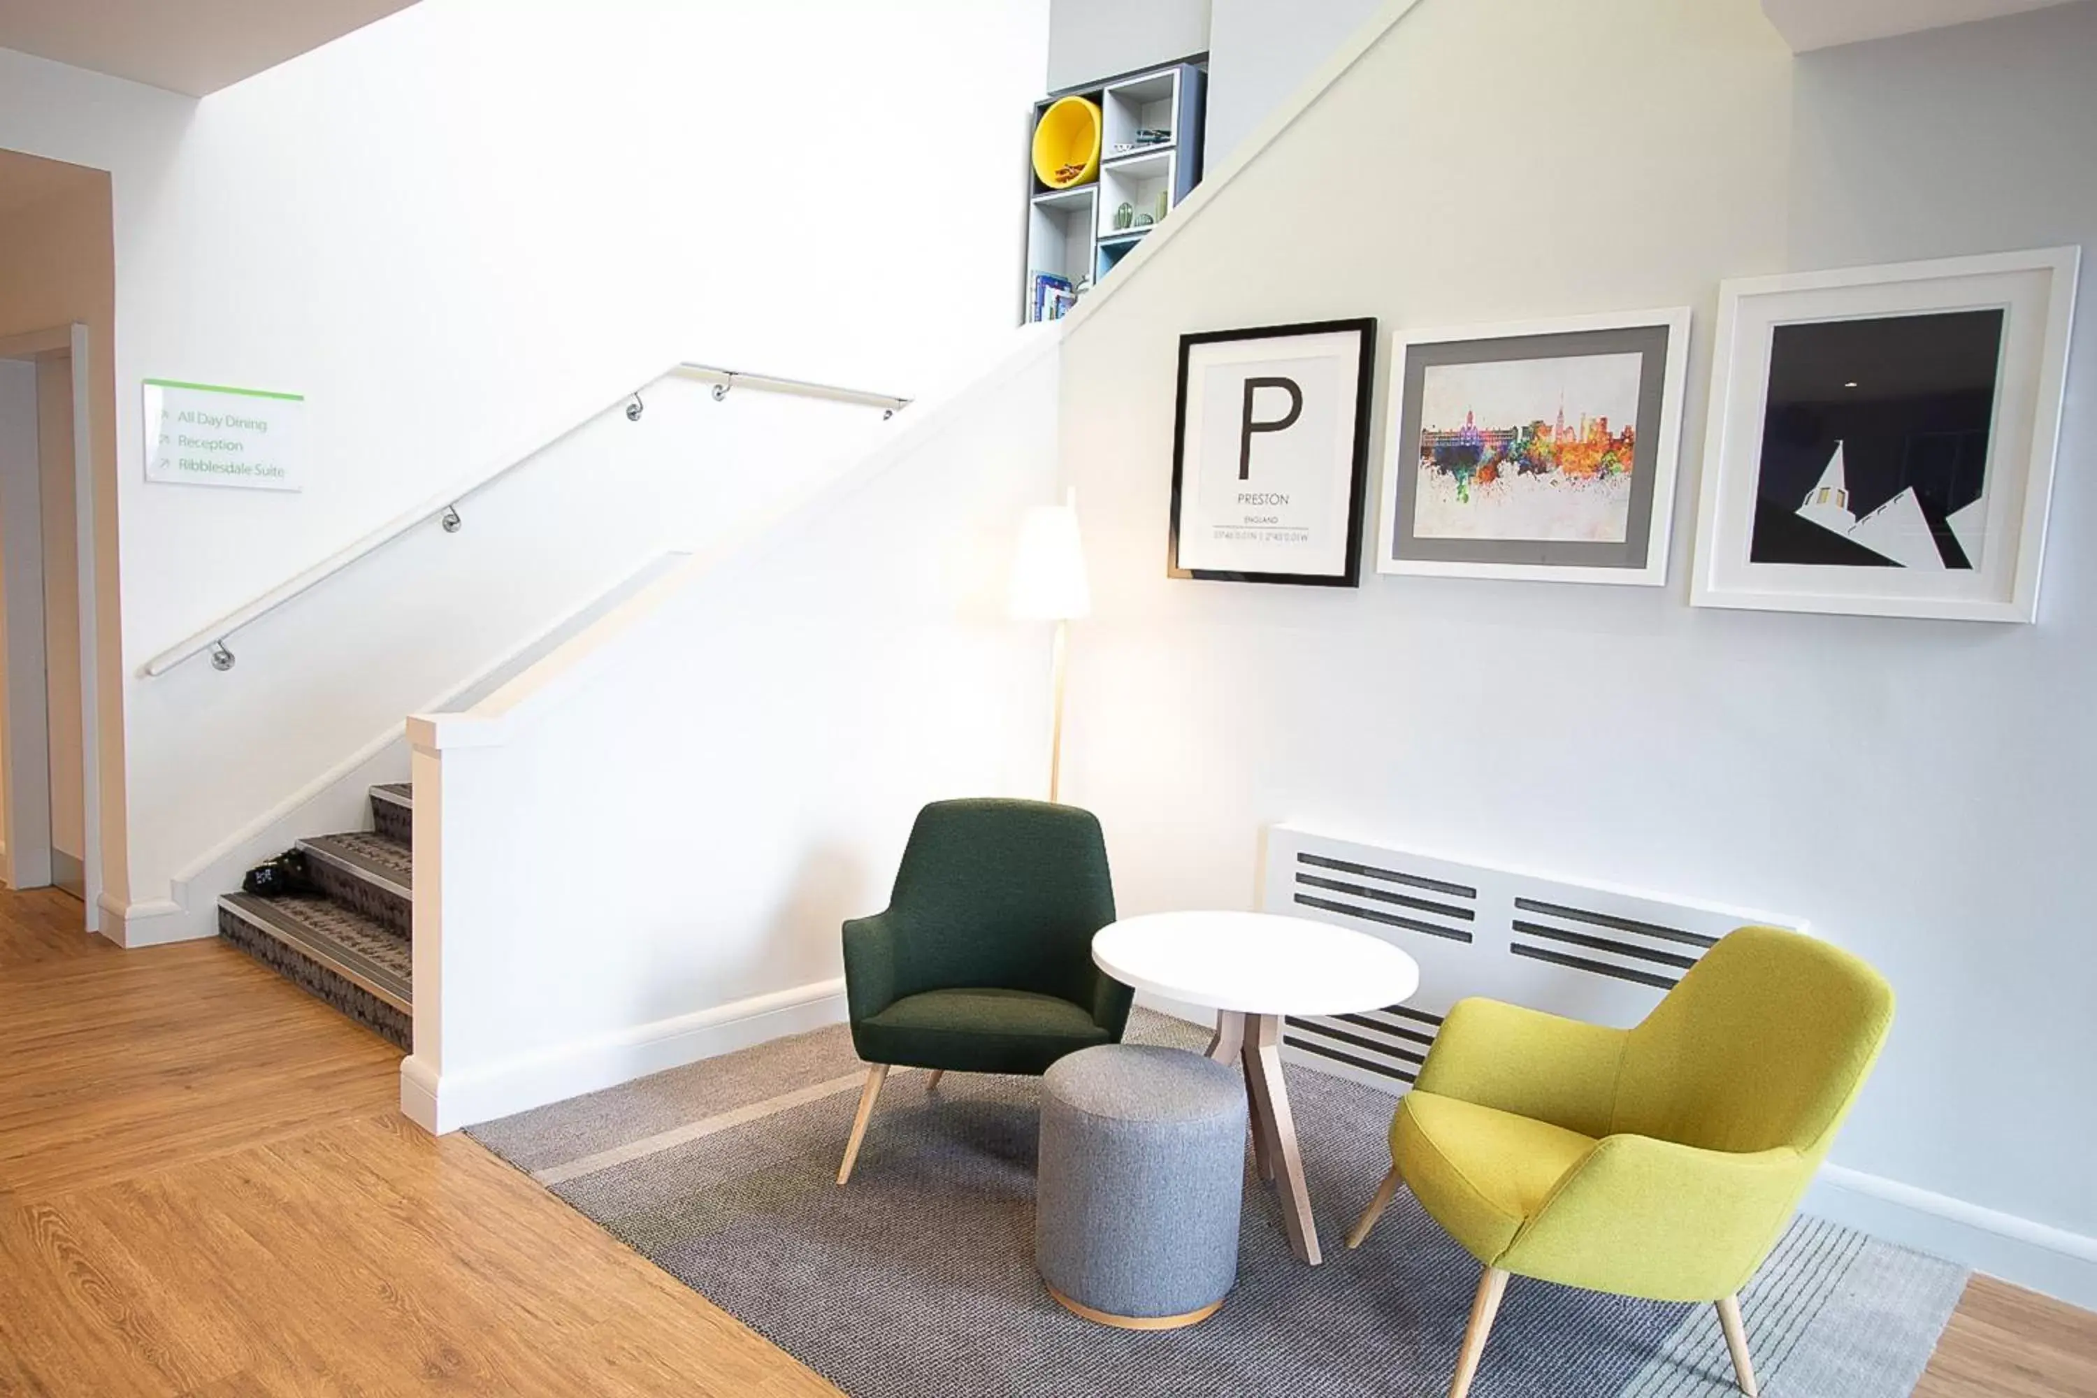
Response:
[{"label": "white wall section below the handrail, above the stairs", "polygon": [[[637,390],[637,417],[623,396],[214,622],[231,669],[197,637],[140,667],[126,945],[212,935],[245,864],[403,780],[403,715],[451,702],[644,560],[702,551],[893,436],[902,398],[807,390],[671,369]],[[453,501],[457,530],[440,524]]]}]

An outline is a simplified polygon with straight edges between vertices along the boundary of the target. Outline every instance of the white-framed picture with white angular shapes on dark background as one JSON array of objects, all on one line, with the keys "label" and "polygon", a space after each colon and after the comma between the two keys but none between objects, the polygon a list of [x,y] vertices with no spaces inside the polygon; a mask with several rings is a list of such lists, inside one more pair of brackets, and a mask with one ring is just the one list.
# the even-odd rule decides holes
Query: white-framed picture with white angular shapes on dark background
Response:
[{"label": "white-framed picture with white angular shapes on dark background", "polygon": [[2032,620],[2078,258],[1724,283],[1690,602]]}]

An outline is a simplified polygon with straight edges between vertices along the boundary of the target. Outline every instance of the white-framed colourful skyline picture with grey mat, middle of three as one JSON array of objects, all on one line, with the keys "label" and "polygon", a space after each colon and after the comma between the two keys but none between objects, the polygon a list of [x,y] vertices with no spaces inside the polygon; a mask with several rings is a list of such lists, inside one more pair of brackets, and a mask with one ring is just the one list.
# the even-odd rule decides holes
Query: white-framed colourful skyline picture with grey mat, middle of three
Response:
[{"label": "white-framed colourful skyline picture with grey mat, middle of three", "polygon": [[1667,581],[1690,312],[1403,331],[1378,572]]}]

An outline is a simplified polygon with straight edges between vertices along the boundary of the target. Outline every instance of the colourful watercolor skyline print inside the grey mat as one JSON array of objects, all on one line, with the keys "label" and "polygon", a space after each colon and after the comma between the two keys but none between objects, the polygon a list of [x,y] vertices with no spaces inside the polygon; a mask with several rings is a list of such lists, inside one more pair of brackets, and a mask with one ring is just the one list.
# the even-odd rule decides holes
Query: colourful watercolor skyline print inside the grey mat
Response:
[{"label": "colourful watercolor skyline print inside the grey mat", "polygon": [[1623,543],[1640,354],[1428,365],[1415,539]]}]

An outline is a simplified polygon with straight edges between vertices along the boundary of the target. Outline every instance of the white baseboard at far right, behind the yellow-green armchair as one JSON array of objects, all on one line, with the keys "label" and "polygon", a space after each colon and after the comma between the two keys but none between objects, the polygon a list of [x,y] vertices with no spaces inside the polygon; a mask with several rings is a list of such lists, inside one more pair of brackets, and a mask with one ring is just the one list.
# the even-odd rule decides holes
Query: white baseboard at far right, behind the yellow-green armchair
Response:
[{"label": "white baseboard at far right, behind the yellow-green armchair", "polygon": [[1822,1165],[1801,1205],[1873,1237],[2097,1310],[2097,1239],[1915,1184]]}]

